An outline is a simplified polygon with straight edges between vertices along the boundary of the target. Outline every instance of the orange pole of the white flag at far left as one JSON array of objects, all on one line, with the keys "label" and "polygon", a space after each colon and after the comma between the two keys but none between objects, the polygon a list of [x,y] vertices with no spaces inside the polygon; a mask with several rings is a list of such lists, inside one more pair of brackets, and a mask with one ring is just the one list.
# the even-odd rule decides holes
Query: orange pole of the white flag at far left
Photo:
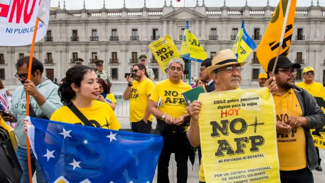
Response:
[{"label": "orange pole of the white flag at far left", "polygon": [[[30,55],[30,62],[28,63],[28,76],[27,79],[31,79],[31,73],[32,73],[32,56],[34,53],[34,45],[35,45],[35,39],[36,39],[36,33],[37,33],[37,27],[38,27],[39,18],[36,18],[35,22],[35,28],[34,28],[34,34],[32,36],[32,46],[31,46],[31,55]],[[26,116],[30,115],[30,95],[26,93]],[[32,183],[32,163],[31,163],[31,147],[30,147],[30,140],[27,136],[27,160],[28,160],[28,173],[30,177],[30,183]]]}]

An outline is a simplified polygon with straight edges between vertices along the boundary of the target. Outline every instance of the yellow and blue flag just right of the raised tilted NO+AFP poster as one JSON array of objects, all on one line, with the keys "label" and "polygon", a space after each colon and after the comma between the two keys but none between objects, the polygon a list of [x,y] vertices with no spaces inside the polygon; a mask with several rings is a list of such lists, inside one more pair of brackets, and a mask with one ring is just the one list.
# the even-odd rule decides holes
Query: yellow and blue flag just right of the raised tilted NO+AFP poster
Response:
[{"label": "yellow and blue flag just right of the raised tilted NO+AFP poster", "polygon": [[198,39],[189,31],[189,21],[186,21],[183,42],[181,47],[181,58],[203,62],[207,57]]}]

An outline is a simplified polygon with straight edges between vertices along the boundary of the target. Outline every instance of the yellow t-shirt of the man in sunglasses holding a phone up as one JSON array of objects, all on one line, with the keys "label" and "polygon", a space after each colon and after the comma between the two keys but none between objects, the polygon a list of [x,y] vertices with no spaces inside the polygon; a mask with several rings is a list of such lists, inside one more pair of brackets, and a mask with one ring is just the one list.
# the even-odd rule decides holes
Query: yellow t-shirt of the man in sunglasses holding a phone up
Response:
[{"label": "yellow t-shirt of the man in sunglasses holding a phone up", "polygon": [[[149,78],[141,82],[133,81],[130,95],[130,122],[138,122],[143,119],[148,106],[148,96],[152,94],[155,84]],[[154,120],[152,114],[148,117],[149,121]]]}]

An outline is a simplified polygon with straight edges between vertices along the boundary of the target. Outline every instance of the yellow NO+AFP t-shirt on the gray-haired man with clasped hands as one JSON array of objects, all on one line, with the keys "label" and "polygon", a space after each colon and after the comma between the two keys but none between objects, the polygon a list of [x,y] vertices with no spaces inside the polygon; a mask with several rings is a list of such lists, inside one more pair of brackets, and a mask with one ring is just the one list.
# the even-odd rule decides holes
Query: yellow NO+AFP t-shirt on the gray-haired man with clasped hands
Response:
[{"label": "yellow NO+AFP t-shirt on the gray-haired man with clasped hands", "polygon": [[158,103],[161,98],[162,105],[158,107],[159,110],[173,116],[176,120],[179,116],[187,114],[187,104],[183,92],[191,89],[192,87],[183,81],[173,84],[169,79],[165,79],[156,84],[150,100]]}]

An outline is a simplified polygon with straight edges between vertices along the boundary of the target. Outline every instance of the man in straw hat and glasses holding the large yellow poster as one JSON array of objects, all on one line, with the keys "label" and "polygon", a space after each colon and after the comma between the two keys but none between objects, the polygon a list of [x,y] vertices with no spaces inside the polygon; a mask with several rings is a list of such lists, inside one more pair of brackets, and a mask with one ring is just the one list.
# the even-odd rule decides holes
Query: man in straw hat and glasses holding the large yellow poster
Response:
[{"label": "man in straw hat and glasses holding the large yellow poster", "polygon": [[[242,79],[242,66],[244,66],[246,63],[247,62],[239,63],[234,52],[230,49],[219,51],[212,60],[212,66],[205,69],[205,72],[211,75],[216,85],[216,90],[214,92],[237,90]],[[270,84],[271,81],[273,82]],[[264,87],[270,88],[270,92],[275,93],[277,91],[275,78],[273,78],[273,80],[271,78],[268,79],[265,82]],[[199,101],[194,101],[189,107],[191,123],[187,135],[192,146],[200,145],[198,114],[201,109],[201,104],[202,103]],[[202,157],[202,159],[203,158],[204,157]],[[200,183],[205,183],[202,159],[199,171],[199,181]],[[225,172],[227,172],[227,170],[225,170]]]}]

